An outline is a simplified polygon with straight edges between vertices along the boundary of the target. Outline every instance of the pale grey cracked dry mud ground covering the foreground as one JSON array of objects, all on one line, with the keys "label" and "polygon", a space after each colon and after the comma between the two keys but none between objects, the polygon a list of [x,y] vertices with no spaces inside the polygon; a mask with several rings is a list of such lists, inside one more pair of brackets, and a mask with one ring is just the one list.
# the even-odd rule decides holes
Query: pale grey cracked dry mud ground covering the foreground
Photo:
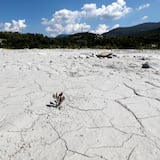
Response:
[{"label": "pale grey cracked dry mud ground covering the foreground", "polygon": [[100,52],[0,50],[0,160],[159,160],[160,52]]}]

